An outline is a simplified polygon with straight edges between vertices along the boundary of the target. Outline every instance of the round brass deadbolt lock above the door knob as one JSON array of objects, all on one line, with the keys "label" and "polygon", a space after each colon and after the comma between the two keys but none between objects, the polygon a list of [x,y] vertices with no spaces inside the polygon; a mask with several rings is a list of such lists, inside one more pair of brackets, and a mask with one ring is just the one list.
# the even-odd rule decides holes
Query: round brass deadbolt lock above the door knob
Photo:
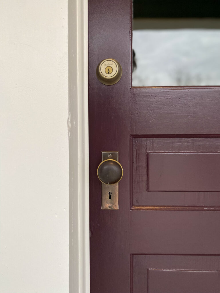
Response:
[{"label": "round brass deadbolt lock above the door knob", "polygon": [[122,76],[121,64],[115,59],[104,59],[97,66],[96,75],[102,84],[116,84]]}]

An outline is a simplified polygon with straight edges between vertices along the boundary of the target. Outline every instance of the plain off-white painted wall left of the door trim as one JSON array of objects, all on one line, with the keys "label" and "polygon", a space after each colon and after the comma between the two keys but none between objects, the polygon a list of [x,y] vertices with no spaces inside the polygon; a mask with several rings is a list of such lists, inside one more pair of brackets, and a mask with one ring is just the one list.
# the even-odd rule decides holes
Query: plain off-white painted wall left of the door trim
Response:
[{"label": "plain off-white painted wall left of the door trim", "polygon": [[0,8],[0,292],[66,293],[67,0]]}]

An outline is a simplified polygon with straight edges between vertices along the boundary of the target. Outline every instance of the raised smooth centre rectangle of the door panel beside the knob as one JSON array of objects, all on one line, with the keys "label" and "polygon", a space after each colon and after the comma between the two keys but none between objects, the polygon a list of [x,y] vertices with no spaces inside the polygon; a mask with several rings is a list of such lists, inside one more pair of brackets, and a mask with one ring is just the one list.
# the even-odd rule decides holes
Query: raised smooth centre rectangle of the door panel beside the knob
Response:
[{"label": "raised smooth centre rectangle of the door panel beside the knob", "polygon": [[149,191],[220,190],[220,153],[148,152],[147,162]]}]

